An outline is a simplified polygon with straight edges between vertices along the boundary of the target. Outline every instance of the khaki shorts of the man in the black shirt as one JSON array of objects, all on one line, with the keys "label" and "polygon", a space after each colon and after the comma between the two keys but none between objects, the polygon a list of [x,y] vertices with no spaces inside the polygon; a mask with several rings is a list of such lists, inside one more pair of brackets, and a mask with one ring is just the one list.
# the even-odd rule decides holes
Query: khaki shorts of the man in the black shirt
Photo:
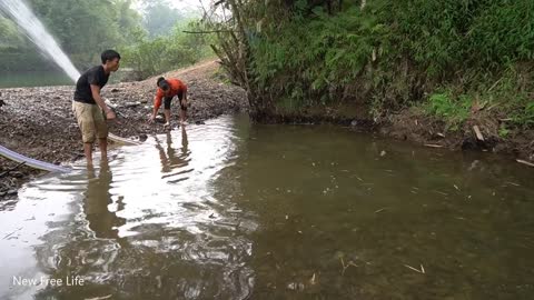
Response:
[{"label": "khaki shorts of the man in the black shirt", "polygon": [[108,126],[99,106],[72,101],[72,111],[80,127],[83,142],[95,142],[95,138],[108,137]]}]

